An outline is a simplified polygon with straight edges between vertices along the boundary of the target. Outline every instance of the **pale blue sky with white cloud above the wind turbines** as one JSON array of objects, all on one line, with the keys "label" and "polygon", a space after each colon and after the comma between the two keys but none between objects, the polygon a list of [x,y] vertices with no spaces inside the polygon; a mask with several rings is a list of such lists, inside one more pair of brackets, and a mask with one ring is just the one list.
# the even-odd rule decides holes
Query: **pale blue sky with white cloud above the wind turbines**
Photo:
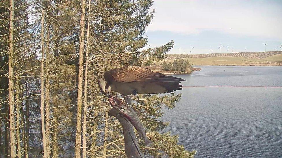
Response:
[{"label": "pale blue sky with white cloud above the wind turbines", "polygon": [[[155,0],[150,47],[175,41],[169,54],[274,51],[282,43],[282,0]],[[191,46],[192,45],[192,46]],[[193,52],[191,52],[191,47]],[[245,50],[247,49],[247,50]]]}]

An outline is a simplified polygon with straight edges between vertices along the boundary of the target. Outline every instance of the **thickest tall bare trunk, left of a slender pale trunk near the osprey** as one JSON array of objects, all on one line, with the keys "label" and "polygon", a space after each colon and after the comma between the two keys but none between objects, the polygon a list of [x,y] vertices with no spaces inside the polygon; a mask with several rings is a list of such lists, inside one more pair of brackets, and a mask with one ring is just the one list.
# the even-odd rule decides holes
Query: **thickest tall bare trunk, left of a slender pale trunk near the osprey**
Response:
[{"label": "thickest tall bare trunk, left of a slender pale trunk near the osprey", "polygon": [[83,76],[83,52],[84,52],[84,15],[85,15],[85,0],[82,0],[81,5],[81,20],[80,20],[80,40],[79,40],[79,71],[78,71],[78,91],[77,91],[77,124],[76,124],[76,142],[75,142],[75,157],[80,157],[81,146],[81,105],[82,105],[82,76]]}]

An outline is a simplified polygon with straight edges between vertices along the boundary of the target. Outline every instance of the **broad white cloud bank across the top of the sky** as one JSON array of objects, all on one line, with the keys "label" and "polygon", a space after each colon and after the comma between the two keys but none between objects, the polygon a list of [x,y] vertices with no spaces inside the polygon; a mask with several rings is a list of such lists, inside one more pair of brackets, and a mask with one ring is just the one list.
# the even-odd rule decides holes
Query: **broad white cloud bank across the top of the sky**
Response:
[{"label": "broad white cloud bank across the top of the sky", "polygon": [[243,37],[282,38],[279,1],[155,0],[152,9],[156,12],[149,31],[188,35],[218,31]]}]

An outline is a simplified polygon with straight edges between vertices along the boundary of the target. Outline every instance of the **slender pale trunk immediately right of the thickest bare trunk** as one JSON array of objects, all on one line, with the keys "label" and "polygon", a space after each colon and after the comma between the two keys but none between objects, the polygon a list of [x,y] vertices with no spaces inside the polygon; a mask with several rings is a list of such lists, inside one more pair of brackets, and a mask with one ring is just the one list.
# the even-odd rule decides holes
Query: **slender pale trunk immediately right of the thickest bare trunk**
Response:
[{"label": "slender pale trunk immediately right of the thickest bare trunk", "polygon": [[86,42],[85,78],[84,78],[84,116],[83,116],[83,157],[86,158],[86,111],[87,111],[87,75],[88,75],[88,53],[89,53],[89,23],[90,23],[91,0],[88,3],[88,25]]}]

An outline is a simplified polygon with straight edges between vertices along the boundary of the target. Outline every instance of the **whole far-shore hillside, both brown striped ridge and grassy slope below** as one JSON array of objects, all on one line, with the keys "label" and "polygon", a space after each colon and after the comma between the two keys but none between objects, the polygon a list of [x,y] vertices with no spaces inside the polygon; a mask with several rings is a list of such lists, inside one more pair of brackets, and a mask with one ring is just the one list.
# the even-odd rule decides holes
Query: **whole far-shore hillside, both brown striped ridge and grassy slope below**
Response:
[{"label": "whole far-shore hillside, both brown striped ridge and grassy slope below", "polygon": [[[259,54],[261,53],[261,54]],[[282,66],[282,51],[212,54],[169,54],[165,61],[188,59],[192,65],[267,65]]]}]

